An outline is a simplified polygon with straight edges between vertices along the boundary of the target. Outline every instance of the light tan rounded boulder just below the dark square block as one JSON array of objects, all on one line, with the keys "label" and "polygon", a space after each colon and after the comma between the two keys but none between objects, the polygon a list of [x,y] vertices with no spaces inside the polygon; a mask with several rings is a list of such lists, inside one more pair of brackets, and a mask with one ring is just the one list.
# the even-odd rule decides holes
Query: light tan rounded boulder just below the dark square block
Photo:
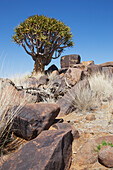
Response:
[{"label": "light tan rounded boulder just below the dark square block", "polygon": [[77,68],[69,68],[65,74],[69,85],[74,86],[79,80],[84,77],[83,71]]}]

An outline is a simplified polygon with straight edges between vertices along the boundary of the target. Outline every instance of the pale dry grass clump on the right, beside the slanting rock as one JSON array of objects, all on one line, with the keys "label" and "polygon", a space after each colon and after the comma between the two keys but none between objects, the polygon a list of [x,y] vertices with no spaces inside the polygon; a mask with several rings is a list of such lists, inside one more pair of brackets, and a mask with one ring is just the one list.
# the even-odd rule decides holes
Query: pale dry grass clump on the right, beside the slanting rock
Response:
[{"label": "pale dry grass clump on the right, beside the slanting rock", "polygon": [[[102,102],[113,101],[113,76],[105,73],[95,73],[88,77],[90,87],[81,87],[70,94],[72,105],[78,111],[86,112],[93,108],[99,108]],[[107,112],[113,113],[113,104],[110,104]],[[112,109],[111,109],[112,106]],[[112,110],[112,111],[111,111]]]}]

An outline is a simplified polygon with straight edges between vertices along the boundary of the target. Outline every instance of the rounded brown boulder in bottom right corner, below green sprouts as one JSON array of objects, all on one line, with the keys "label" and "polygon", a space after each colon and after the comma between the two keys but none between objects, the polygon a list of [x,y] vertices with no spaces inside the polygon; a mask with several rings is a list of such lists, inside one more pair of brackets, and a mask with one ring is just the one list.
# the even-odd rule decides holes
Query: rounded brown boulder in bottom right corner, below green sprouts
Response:
[{"label": "rounded brown boulder in bottom right corner, below green sprouts", "polygon": [[113,168],[113,147],[102,146],[98,154],[99,162],[107,168]]}]

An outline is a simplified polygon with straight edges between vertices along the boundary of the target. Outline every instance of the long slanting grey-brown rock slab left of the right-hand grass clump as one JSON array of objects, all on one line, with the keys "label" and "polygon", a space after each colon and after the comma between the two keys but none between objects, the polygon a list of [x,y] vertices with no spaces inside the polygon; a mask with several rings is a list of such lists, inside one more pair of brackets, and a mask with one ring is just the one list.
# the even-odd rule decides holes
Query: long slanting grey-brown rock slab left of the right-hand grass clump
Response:
[{"label": "long slanting grey-brown rock slab left of the right-hand grass clump", "polygon": [[90,88],[89,81],[87,79],[79,81],[74,87],[72,87],[68,92],[57,101],[60,106],[59,116],[64,116],[73,111],[73,100],[76,97],[78,91],[83,88]]}]

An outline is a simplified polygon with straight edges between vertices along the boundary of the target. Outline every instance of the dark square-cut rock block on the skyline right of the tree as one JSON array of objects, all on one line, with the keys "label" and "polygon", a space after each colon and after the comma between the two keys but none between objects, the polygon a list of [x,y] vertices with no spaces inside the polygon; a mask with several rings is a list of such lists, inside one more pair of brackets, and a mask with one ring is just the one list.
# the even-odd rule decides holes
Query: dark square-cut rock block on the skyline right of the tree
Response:
[{"label": "dark square-cut rock block on the skyline right of the tree", "polygon": [[61,68],[68,68],[68,67],[72,67],[75,64],[79,64],[80,63],[80,55],[78,54],[72,54],[72,55],[66,55],[61,57]]}]

